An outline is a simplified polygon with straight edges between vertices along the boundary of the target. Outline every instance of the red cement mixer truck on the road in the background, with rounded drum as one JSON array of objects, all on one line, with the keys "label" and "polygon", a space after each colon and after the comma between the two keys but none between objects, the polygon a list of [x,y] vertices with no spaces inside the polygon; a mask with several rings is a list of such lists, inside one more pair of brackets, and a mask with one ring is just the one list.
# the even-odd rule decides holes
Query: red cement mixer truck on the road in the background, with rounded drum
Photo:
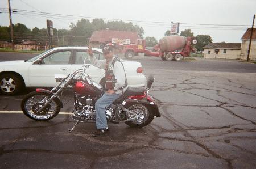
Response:
[{"label": "red cement mixer truck on the road in the background, with rounded drum", "polygon": [[136,44],[125,45],[123,47],[123,53],[126,58],[133,58],[139,53],[144,56],[161,57],[164,61],[180,61],[183,57],[189,56],[190,52],[195,52],[192,48],[192,44],[196,44],[196,39],[192,37],[184,36],[165,36],[159,40],[152,50],[146,49],[146,41],[138,39]]}]

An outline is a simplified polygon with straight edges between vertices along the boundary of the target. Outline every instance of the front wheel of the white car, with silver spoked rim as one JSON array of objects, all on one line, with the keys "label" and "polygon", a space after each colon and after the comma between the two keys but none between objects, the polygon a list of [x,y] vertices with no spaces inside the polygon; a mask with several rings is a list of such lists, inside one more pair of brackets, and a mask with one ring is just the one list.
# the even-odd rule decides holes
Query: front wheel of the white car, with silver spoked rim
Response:
[{"label": "front wheel of the white car, with silver spoked rim", "polygon": [[15,74],[0,75],[0,92],[5,95],[15,95],[23,88],[22,80]]}]

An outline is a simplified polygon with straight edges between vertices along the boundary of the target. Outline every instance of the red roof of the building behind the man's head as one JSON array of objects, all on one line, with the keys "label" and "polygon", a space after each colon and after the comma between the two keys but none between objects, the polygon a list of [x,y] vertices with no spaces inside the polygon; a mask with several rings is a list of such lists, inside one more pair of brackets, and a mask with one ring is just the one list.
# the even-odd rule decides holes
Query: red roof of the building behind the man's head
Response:
[{"label": "red roof of the building behind the man's head", "polygon": [[140,39],[137,32],[101,30],[93,32],[90,42],[112,42],[112,38],[130,39],[130,43],[135,43],[137,39]]}]

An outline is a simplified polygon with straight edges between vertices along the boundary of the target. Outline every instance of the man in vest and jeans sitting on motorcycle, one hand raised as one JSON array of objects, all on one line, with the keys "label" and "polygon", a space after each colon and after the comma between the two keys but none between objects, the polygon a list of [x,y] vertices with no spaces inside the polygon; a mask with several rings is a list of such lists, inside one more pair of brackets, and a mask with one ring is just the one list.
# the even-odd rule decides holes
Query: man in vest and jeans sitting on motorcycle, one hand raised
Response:
[{"label": "man in vest and jeans sitting on motorcycle, one hand raised", "polygon": [[97,60],[93,56],[92,48],[88,48],[88,54],[90,55],[90,61],[92,65],[105,69],[106,79],[106,92],[104,95],[97,100],[95,103],[96,109],[96,135],[104,135],[109,132],[105,107],[108,107],[114,102],[123,92],[127,89],[127,80],[125,69],[122,62],[118,57],[115,57],[112,52],[112,48],[105,46],[103,48],[103,54],[105,60]]}]

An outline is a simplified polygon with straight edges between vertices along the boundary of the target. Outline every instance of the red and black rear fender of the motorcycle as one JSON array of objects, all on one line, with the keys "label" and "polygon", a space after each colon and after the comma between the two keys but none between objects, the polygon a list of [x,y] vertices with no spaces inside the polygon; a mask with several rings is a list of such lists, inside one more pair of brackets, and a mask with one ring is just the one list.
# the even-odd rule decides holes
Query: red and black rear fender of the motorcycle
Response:
[{"label": "red and black rear fender of the motorcycle", "polygon": [[[159,109],[158,109],[158,105],[156,104],[155,100],[152,98],[152,96],[147,95],[147,102],[146,100],[142,100],[145,96],[130,96],[128,98],[127,101],[129,102],[133,102],[132,100],[129,99],[136,99],[136,100],[140,100],[141,102],[139,103],[143,103],[143,104],[148,104],[148,106],[152,109],[152,111],[155,113],[156,117],[161,117]],[[135,102],[135,101],[134,101]]]}]

